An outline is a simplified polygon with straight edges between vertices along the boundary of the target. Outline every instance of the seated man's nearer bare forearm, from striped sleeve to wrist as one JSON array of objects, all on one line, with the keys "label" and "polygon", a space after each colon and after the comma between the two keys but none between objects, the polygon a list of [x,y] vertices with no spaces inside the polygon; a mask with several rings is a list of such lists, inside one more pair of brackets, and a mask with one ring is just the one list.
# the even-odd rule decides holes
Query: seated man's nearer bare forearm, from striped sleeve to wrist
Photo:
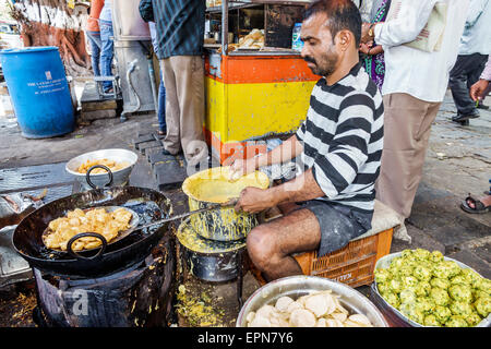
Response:
[{"label": "seated man's nearer bare forearm, from striped sleeve to wrist", "polygon": [[274,197],[275,205],[308,201],[325,195],[315,181],[312,169],[307,170],[291,181],[272,186],[268,190],[272,197]]}]

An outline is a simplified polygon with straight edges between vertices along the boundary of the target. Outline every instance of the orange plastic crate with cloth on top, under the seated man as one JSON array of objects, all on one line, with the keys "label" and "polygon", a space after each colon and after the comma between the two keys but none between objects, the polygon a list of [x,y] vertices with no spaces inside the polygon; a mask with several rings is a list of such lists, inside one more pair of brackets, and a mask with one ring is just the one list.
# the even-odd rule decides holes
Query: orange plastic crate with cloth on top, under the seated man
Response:
[{"label": "orange plastic crate with cloth on top, under the seated man", "polygon": [[372,229],[322,257],[316,251],[294,256],[304,275],[326,277],[350,287],[370,285],[375,263],[390,253],[394,228],[398,225],[395,210],[375,200]]}]

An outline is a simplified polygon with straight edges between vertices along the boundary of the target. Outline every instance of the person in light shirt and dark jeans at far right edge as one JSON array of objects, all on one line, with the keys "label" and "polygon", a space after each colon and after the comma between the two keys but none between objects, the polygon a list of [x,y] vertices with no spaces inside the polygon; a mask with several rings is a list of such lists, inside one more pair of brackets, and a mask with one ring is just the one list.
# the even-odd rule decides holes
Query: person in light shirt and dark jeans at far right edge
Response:
[{"label": "person in light shirt and dark jeans at far right edge", "polygon": [[469,124],[469,119],[479,118],[476,104],[469,96],[469,88],[479,80],[490,53],[491,0],[470,0],[457,62],[450,75],[448,86],[457,107],[457,115],[452,121]]}]

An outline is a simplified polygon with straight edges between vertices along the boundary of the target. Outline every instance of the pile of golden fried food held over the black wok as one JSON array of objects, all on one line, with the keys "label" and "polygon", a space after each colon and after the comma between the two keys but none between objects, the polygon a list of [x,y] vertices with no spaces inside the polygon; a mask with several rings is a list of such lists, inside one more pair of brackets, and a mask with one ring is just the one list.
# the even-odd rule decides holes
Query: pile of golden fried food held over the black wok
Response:
[{"label": "pile of golden fried food held over the black wok", "polygon": [[[110,242],[120,231],[130,228],[132,216],[128,209],[121,207],[113,212],[107,212],[104,207],[86,212],[75,208],[67,213],[67,216],[51,220],[43,240],[48,249],[62,251],[67,251],[68,241],[81,232],[100,233],[107,242]],[[85,237],[77,239],[72,244],[72,250],[89,250],[101,243],[100,239]]]}]

